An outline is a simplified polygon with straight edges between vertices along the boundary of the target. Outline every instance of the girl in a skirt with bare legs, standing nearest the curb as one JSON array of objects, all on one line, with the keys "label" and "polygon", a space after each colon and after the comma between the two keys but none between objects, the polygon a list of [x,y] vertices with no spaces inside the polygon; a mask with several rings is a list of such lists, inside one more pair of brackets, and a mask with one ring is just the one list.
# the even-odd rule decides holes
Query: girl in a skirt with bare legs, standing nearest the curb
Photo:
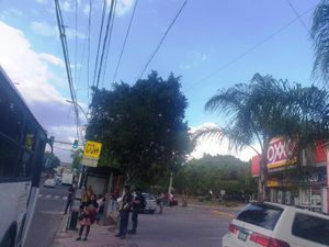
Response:
[{"label": "girl in a skirt with bare legs, standing nearest the curb", "polygon": [[80,231],[79,231],[79,237],[76,240],[81,240],[81,236],[83,234],[83,229],[86,227],[84,238],[82,238],[83,242],[87,242],[87,237],[90,232],[90,226],[94,223],[97,214],[97,209],[94,207],[93,203],[89,201],[86,206],[80,206],[80,215],[79,215],[79,222],[80,222]]}]

